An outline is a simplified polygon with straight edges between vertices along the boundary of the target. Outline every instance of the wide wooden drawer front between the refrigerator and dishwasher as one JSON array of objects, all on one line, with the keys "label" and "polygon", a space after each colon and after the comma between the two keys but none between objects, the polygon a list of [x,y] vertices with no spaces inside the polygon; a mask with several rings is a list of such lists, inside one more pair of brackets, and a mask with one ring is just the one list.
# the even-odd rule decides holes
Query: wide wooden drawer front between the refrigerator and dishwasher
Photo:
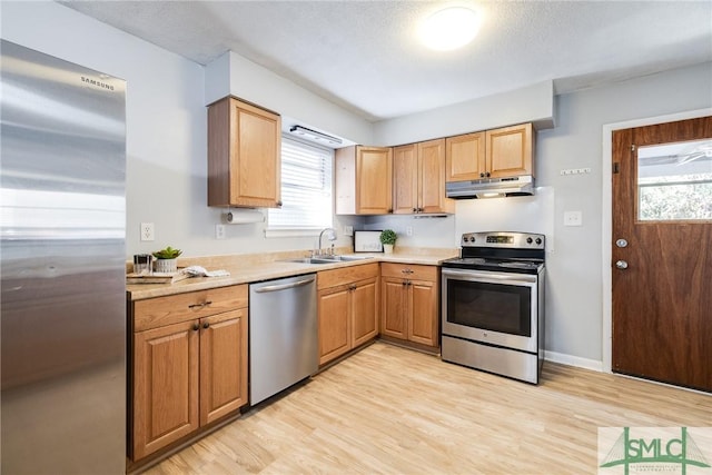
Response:
[{"label": "wide wooden drawer front between the refrigerator and dishwasher", "polygon": [[189,291],[134,303],[134,331],[247,307],[247,285]]}]

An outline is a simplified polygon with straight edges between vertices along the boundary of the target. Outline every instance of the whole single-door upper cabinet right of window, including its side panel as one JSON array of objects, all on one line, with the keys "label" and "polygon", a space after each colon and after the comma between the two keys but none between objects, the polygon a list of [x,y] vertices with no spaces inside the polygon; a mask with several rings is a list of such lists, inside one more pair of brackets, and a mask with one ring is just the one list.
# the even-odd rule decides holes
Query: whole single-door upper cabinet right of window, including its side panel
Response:
[{"label": "whole single-door upper cabinet right of window, including its side panel", "polygon": [[345,147],[335,160],[337,215],[393,212],[390,147]]}]

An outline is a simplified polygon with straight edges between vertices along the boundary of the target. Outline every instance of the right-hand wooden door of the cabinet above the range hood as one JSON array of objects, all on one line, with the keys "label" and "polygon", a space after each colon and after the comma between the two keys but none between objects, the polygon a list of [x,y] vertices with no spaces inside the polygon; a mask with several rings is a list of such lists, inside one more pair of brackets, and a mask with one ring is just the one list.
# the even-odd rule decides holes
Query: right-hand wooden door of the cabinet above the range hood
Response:
[{"label": "right-hand wooden door of the cabinet above the range hood", "polygon": [[492,178],[533,175],[532,123],[487,130],[486,169]]}]

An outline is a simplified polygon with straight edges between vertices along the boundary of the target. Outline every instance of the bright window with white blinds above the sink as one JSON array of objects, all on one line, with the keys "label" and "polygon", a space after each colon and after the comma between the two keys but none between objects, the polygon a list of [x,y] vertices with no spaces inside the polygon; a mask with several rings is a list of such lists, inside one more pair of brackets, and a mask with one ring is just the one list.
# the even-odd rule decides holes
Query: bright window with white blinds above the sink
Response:
[{"label": "bright window with white blinds above the sink", "polygon": [[269,209],[270,231],[332,227],[334,150],[281,139],[281,208]]}]

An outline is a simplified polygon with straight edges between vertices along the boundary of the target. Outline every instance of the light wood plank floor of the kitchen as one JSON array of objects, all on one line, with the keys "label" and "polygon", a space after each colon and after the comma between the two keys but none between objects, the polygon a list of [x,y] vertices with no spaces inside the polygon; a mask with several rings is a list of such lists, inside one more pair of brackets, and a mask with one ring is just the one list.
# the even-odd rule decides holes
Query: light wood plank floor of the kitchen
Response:
[{"label": "light wood plank floor of the kitchen", "polygon": [[624,426],[712,426],[712,395],[552,363],[532,386],[376,343],[147,474],[594,474],[597,427]]}]

